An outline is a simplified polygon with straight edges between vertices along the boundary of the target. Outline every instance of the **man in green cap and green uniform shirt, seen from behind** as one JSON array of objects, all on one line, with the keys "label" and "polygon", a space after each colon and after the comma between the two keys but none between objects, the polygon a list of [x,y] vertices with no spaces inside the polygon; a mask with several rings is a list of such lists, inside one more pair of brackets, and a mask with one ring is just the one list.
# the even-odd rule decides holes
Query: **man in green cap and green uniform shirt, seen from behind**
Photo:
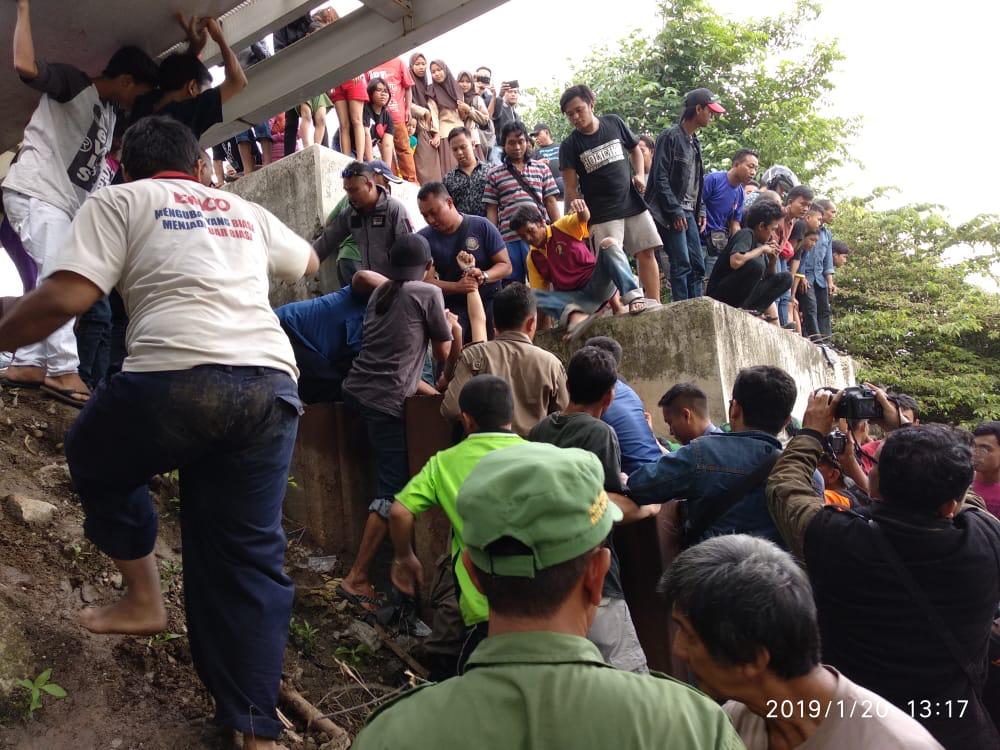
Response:
[{"label": "man in green cap and green uniform shirt, seen from behind", "polygon": [[621,511],[588,451],[494,451],[458,495],[463,563],[490,602],[465,673],[382,706],[370,748],[742,748],[722,710],[662,675],[609,667],[586,639]]}]

